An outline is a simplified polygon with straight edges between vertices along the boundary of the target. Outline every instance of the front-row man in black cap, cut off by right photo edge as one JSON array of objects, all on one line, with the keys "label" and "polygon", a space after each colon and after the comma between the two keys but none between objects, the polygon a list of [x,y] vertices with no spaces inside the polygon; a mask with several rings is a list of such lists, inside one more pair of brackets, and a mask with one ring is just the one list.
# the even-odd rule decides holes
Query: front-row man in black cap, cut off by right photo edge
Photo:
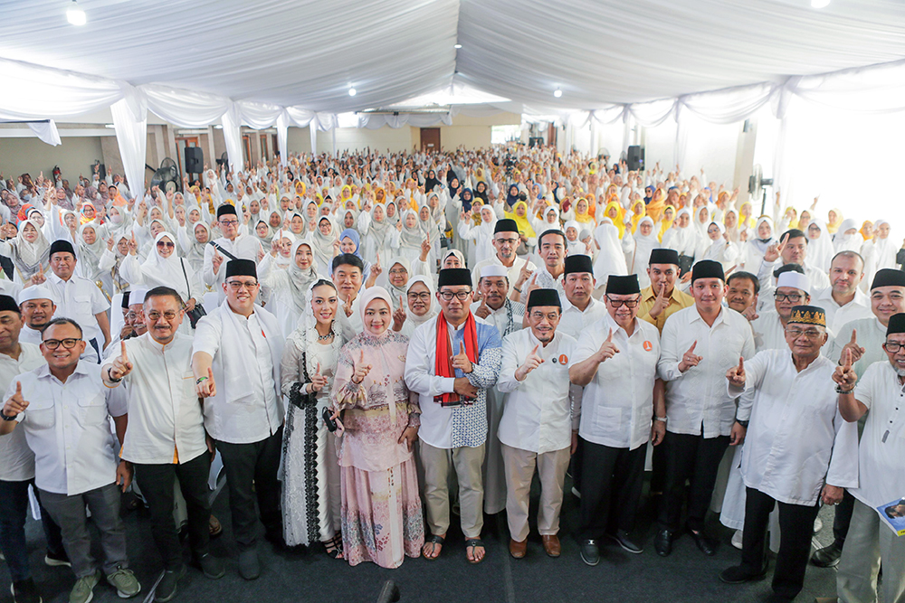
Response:
[{"label": "front-row man in black cap, cut off by right photo edge", "polygon": [[905,599],[905,538],[884,525],[886,518],[878,513],[878,507],[885,512],[905,494],[905,314],[891,316],[883,351],[887,360],[873,363],[858,380],[846,350],[833,376],[843,419],[854,422],[867,414],[852,522],[836,573],[836,594],[843,603],[876,601],[879,590],[883,601]]}]

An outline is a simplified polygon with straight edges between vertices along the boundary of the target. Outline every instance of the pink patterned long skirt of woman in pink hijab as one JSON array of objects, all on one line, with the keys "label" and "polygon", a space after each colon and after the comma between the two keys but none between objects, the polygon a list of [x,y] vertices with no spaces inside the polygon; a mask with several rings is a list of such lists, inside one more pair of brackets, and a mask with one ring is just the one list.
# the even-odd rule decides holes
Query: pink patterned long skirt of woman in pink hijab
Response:
[{"label": "pink patterned long skirt of woman in pink hijab", "polygon": [[424,518],[414,458],[386,471],[342,470],[342,543],[349,565],[397,568],[420,557]]}]

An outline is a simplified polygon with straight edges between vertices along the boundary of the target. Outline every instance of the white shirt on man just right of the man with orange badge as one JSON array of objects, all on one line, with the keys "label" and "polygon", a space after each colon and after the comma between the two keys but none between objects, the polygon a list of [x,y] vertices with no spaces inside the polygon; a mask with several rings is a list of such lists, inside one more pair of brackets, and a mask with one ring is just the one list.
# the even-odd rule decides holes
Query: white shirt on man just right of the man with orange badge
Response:
[{"label": "white shirt on man just right of the man with orange badge", "polygon": [[[682,356],[697,342],[697,366],[679,371]],[[754,334],[748,319],[723,307],[712,326],[697,306],[679,310],[666,320],[660,338],[658,372],[666,382],[666,429],[704,438],[728,436],[735,422],[736,403],[726,391],[726,372],[754,355]]]}]

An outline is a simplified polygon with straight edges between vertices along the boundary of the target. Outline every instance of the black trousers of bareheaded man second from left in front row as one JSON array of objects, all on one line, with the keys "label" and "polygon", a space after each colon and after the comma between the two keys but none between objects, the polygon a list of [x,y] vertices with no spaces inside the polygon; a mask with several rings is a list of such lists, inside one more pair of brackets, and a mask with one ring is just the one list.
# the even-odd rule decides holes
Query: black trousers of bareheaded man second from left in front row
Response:
[{"label": "black trousers of bareheaded man second from left in front row", "polygon": [[210,490],[207,476],[211,470],[211,457],[205,451],[181,465],[142,465],[134,463],[135,481],[148,502],[151,513],[151,535],[167,570],[182,566],[182,545],[176,523],[173,521],[174,487],[179,479],[179,489],[186,499],[188,536],[192,552],[201,556],[207,552],[210,542],[211,519]]}]

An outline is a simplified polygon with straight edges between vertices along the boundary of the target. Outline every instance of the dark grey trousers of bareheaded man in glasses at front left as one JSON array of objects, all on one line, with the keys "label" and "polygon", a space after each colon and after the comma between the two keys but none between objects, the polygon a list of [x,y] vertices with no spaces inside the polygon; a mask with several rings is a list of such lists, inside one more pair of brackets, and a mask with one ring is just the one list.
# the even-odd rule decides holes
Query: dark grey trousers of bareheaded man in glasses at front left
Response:
[{"label": "dark grey trousers of bareheaded man in glasses at front left", "polygon": [[71,496],[41,491],[44,509],[62,530],[62,545],[77,579],[91,576],[98,570],[98,563],[91,556],[86,505],[91,512],[91,522],[100,531],[104,573],[110,575],[119,567],[129,567],[129,559],[126,557],[126,526],[119,519],[119,495],[119,486],[116,484]]}]

